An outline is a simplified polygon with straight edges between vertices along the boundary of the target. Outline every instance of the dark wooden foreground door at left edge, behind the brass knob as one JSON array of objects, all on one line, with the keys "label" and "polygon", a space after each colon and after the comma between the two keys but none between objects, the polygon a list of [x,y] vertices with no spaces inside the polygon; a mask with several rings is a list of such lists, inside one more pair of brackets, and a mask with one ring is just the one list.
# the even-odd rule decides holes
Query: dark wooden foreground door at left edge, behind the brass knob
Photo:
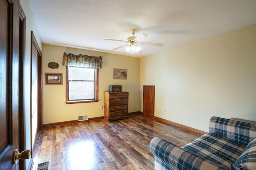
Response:
[{"label": "dark wooden foreground door at left edge, behind the brass knob", "polygon": [[0,169],[18,169],[19,149],[19,1],[0,0]]}]

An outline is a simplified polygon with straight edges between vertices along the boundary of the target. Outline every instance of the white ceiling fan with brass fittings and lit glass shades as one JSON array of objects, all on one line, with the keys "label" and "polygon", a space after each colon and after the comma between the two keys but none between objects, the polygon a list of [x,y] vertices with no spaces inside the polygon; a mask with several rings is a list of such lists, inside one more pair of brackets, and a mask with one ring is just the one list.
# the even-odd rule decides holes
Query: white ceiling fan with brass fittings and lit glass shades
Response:
[{"label": "white ceiling fan with brass fittings and lit glass shades", "polygon": [[119,47],[116,47],[113,50],[122,48],[126,46],[126,51],[128,53],[134,54],[134,53],[142,53],[142,48],[140,47],[140,45],[152,45],[152,46],[157,46],[157,47],[163,47],[164,44],[162,43],[152,43],[152,42],[141,42],[140,40],[142,40],[143,38],[146,38],[148,36],[148,34],[140,34],[139,36],[134,36],[135,32],[137,30],[136,29],[132,29],[131,33],[132,36],[128,37],[127,40],[114,40],[114,39],[104,39],[104,40],[110,40],[110,41],[117,41],[117,42],[124,42],[126,44],[121,45]]}]

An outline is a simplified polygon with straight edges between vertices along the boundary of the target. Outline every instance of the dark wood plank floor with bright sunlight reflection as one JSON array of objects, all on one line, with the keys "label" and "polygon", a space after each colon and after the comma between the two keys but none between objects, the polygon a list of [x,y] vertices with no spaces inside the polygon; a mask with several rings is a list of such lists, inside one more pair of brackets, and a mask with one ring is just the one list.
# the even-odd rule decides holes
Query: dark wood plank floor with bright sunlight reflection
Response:
[{"label": "dark wood plank floor with bright sunlight reflection", "polygon": [[33,168],[49,161],[51,170],[153,170],[149,143],[155,136],[183,146],[201,135],[143,115],[46,127],[38,135]]}]

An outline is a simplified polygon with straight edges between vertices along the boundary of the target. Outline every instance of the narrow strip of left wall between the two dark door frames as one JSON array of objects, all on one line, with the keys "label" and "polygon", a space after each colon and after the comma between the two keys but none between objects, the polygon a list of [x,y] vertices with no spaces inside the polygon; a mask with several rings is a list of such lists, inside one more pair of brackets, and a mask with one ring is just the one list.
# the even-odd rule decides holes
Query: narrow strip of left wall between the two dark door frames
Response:
[{"label": "narrow strip of left wall between the two dark door frames", "polygon": [[[31,31],[34,32],[38,45],[42,50],[42,42],[38,33],[38,28],[36,26],[36,22],[34,20],[34,16],[32,14],[32,10],[28,3],[28,0],[20,0],[20,5],[26,15],[26,44],[25,44],[25,58],[24,58],[24,98],[25,98],[25,123],[26,123],[26,149],[31,148],[31,132],[30,132],[30,62],[31,62]],[[32,164],[32,160],[26,160],[27,168]]]}]

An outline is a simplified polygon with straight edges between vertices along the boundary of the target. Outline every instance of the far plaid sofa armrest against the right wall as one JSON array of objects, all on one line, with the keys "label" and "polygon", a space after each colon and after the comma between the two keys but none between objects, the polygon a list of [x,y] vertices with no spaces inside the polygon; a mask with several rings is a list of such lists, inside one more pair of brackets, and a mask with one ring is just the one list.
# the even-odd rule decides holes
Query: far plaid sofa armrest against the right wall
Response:
[{"label": "far plaid sofa armrest against the right wall", "polygon": [[248,144],[256,136],[256,125],[220,117],[210,119],[209,132]]}]

